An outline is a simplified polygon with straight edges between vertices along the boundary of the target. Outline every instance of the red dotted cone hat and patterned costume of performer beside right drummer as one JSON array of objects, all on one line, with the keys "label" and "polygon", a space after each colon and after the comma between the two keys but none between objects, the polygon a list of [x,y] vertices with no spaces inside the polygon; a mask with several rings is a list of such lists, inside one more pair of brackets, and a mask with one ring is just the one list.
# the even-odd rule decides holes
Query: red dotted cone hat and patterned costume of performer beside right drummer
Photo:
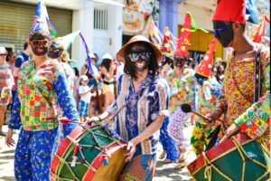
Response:
[{"label": "red dotted cone hat and patterned costume of performer beside right drummer", "polygon": [[[209,114],[215,110],[217,97],[220,96],[220,83],[214,76],[210,78],[216,44],[217,39],[214,38],[210,43],[208,51],[203,56],[201,64],[195,74],[197,81],[201,85],[201,89],[198,90],[197,111],[202,115]],[[213,90],[210,90],[210,86]],[[196,117],[195,119],[196,124],[192,132],[191,143],[194,153],[199,156],[207,148],[210,142],[208,136],[216,129],[216,126],[218,126],[219,123],[216,123],[216,126],[210,128],[203,122],[201,117]]]}]

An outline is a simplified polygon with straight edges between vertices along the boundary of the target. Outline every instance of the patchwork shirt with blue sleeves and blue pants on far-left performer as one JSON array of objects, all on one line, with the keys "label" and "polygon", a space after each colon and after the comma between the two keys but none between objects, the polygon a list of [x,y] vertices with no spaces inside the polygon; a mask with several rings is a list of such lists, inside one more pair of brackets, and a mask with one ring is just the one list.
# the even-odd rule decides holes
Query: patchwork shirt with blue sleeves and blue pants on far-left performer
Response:
[{"label": "patchwork shirt with blue sleeves and blue pants on far-left performer", "polygon": [[[59,62],[51,60],[35,70],[33,60],[29,60],[22,65],[17,91],[8,125],[10,129],[22,127],[14,157],[16,180],[49,181],[52,147],[59,127],[54,97],[64,116],[79,121],[69,84]],[[72,129],[73,125],[68,132]]]}]

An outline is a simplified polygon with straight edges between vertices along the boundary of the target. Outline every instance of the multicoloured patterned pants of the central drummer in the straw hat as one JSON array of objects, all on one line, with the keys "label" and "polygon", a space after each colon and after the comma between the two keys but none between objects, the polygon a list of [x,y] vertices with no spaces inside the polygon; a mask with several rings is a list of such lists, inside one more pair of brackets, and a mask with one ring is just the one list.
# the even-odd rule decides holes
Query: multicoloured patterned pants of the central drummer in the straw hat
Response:
[{"label": "multicoloured patterned pants of the central drummer in the straw hat", "polygon": [[156,155],[139,155],[126,163],[120,181],[151,181],[154,177]]}]

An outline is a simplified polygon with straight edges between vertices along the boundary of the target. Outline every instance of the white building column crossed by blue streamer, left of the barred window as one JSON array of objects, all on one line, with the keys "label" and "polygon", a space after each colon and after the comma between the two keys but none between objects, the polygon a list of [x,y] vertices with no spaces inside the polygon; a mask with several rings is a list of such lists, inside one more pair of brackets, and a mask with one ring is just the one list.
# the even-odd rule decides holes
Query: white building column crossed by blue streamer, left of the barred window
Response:
[{"label": "white building column crossed by blue streamer, left of the barred window", "polygon": [[[89,45],[89,51],[91,52],[93,47],[91,47],[93,42],[93,16],[94,16],[94,5],[93,2],[88,0],[83,0],[80,2],[79,10],[74,10],[72,14],[72,32],[80,30],[86,42]],[[80,67],[85,63],[87,58],[85,47],[78,37],[71,46],[71,58],[76,60]]]}]

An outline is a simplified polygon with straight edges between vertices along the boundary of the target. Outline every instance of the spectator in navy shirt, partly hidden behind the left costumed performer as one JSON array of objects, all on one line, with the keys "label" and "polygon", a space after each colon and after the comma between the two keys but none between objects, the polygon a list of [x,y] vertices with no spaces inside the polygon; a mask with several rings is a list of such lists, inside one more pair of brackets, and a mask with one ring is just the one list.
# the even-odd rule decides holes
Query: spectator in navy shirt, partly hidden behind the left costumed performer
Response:
[{"label": "spectator in navy shirt, partly hidden behind the left costumed performer", "polygon": [[24,43],[23,52],[21,52],[21,54],[15,59],[14,77],[18,77],[21,65],[23,64],[23,62],[29,60],[29,55],[31,53],[31,46],[28,43]]}]

